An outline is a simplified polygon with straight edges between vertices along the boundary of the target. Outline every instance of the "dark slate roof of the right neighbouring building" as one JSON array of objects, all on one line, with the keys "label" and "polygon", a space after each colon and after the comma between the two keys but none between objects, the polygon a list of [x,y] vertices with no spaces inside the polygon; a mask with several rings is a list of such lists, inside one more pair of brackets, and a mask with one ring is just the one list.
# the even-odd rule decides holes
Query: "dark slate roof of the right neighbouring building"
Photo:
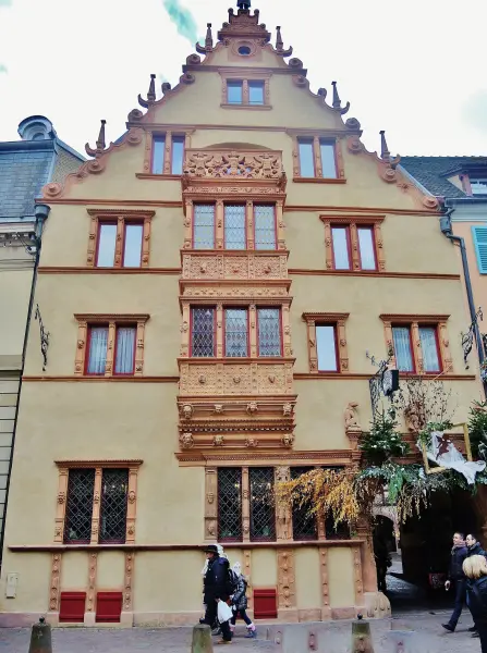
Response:
[{"label": "dark slate roof of the right neighbouring building", "polygon": [[431,195],[460,198],[470,196],[448,177],[472,169],[484,169],[487,173],[487,157],[401,157],[400,165]]}]

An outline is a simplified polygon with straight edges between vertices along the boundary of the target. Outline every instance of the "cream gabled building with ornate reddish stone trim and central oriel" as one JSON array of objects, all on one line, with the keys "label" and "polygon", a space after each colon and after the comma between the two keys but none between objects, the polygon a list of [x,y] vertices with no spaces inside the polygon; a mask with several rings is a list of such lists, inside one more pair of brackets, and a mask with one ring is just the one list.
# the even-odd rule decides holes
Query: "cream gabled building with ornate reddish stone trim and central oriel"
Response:
[{"label": "cream gabled building with ornate reddish stone trim and central oriel", "polygon": [[27,348],[2,625],[195,623],[216,541],[256,618],[382,615],[367,528],[276,510],[275,482],[357,464],[366,350],[441,375],[459,420],[478,393],[438,202],[239,4],[121,141],[104,124],[44,188],[51,337],[45,371]]}]

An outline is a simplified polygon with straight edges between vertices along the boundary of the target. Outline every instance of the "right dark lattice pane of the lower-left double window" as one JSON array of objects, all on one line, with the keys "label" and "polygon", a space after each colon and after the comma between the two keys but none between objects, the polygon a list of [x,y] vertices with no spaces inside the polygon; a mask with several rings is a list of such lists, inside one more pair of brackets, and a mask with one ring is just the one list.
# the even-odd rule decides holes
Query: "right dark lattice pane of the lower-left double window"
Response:
[{"label": "right dark lattice pane of the lower-left double window", "polygon": [[127,469],[104,469],[99,542],[125,542]]}]

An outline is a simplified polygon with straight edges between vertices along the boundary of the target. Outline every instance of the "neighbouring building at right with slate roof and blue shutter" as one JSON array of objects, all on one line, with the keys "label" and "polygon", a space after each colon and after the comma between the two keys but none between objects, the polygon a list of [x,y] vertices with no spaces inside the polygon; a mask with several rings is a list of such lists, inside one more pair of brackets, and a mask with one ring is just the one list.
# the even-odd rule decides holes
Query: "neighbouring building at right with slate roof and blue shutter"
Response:
[{"label": "neighbouring building at right with slate roof and blue shutter", "polygon": [[[468,262],[466,275],[462,272],[465,287],[466,276],[472,286],[471,320],[475,321],[478,308],[487,318],[487,157],[402,157],[401,168],[449,211],[451,233],[463,238]],[[487,332],[482,320],[478,325]],[[465,324],[463,331],[467,330]],[[483,362],[485,344],[479,355]],[[478,367],[473,358],[468,362],[473,369]],[[487,379],[487,368],[485,373]]]}]

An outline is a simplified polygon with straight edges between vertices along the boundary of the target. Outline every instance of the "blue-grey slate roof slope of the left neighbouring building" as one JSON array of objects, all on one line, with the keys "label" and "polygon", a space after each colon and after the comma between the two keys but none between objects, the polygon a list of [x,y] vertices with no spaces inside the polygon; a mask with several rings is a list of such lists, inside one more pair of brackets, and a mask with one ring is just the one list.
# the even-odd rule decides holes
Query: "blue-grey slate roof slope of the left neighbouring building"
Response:
[{"label": "blue-grey slate roof slope of the left neighbouring building", "polygon": [[53,140],[0,144],[0,220],[34,215],[34,200],[49,180],[54,153]]}]

